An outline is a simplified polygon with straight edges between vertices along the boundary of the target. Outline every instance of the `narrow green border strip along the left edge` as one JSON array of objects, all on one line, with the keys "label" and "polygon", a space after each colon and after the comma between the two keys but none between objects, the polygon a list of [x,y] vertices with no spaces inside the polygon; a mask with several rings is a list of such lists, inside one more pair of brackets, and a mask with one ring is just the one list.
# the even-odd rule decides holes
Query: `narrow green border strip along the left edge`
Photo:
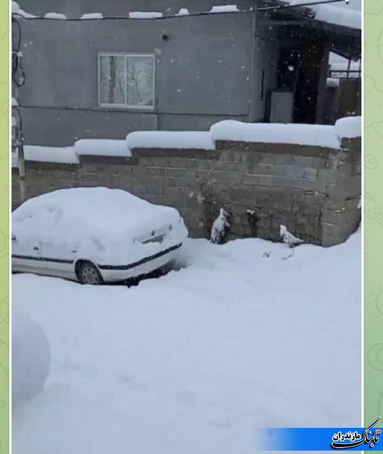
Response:
[{"label": "narrow green border strip along the left edge", "polygon": [[9,3],[0,3],[0,454],[9,452]]}]

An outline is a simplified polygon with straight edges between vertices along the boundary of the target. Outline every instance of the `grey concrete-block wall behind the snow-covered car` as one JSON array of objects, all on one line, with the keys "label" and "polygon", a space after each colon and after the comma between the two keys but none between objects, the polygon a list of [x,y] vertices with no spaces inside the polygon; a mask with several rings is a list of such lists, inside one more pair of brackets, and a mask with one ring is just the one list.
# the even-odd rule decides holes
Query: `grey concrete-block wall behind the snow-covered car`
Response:
[{"label": "grey concrete-block wall behind the snow-covered car", "polygon": [[121,188],[177,208],[194,237],[210,236],[221,207],[232,215],[230,239],[278,241],[284,224],[323,246],[346,240],[361,217],[360,138],[343,139],[341,149],[230,141],[211,151],[136,148],[131,158],[28,161],[26,168],[27,197],[57,188]]}]

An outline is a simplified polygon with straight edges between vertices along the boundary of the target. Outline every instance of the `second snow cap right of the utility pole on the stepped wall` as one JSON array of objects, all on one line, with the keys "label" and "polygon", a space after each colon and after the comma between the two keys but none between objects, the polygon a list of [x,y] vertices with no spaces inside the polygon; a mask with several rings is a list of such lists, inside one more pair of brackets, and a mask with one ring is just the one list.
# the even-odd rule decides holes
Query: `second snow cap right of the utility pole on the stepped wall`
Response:
[{"label": "second snow cap right of the utility pole on the stepped wall", "polygon": [[78,156],[132,156],[126,141],[113,139],[80,139],[75,143],[75,151]]}]

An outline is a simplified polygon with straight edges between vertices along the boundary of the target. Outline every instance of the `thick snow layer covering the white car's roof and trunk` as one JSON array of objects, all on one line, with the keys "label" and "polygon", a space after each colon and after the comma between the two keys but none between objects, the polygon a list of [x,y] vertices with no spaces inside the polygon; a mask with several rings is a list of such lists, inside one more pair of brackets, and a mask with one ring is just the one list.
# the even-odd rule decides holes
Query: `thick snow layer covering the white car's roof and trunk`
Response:
[{"label": "thick snow layer covering the white car's roof and trunk", "polygon": [[167,241],[182,243],[187,230],[175,208],[150,204],[122,189],[59,189],[27,200],[12,213],[12,234],[20,243],[53,242],[76,250],[77,258],[117,265],[166,249],[165,241],[142,244],[136,238],[170,225]]}]

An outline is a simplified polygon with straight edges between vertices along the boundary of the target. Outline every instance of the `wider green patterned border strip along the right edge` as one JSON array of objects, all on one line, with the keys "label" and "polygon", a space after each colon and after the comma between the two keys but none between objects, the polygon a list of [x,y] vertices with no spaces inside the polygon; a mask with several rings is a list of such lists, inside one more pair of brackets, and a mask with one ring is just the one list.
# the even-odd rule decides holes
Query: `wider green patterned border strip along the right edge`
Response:
[{"label": "wider green patterned border strip along the right edge", "polygon": [[[383,1],[364,1],[364,424],[383,420]],[[382,439],[383,452],[383,439]]]}]

